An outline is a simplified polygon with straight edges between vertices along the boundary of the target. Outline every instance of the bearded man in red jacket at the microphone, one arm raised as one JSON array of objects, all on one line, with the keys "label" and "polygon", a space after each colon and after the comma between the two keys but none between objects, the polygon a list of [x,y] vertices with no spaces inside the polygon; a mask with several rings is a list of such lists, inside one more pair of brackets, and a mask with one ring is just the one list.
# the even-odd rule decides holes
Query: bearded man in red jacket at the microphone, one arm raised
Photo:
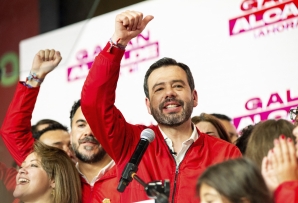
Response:
[{"label": "bearded man in red jacket at the microphone, one arm raised", "polygon": [[[206,167],[241,156],[232,144],[203,134],[191,122],[198,96],[190,69],[171,58],[152,64],[144,80],[146,106],[158,125],[132,125],[114,106],[120,61],[129,41],[140,34],[153,16],[126,11],[116,16],[111,41],[96,57],[82,90],[82,111],[103,148],[116,162],[120,179],[140,140],[151,128],[155,139],[148,146],[137,174],[145,182],[170,180],[172,203],[199,202],[195,197],[197,178]],[[117,187],[115,185],[115,187]],[[122,202],[148,199],[143,186],[133,180]]]}]

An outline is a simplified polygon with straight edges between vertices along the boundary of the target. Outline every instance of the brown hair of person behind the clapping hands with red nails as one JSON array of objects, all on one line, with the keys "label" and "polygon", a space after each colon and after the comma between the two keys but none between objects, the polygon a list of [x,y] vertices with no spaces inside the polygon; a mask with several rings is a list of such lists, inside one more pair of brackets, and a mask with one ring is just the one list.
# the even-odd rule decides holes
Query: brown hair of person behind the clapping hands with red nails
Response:
[{"label": "brown hair of person behind the clapping hands with red nails", "polygon": [[263,158],[273,148],[273,140],[280,135],[294,140],[293,129],[294,125],[285,119],[269,119],[257,123],[249,137],[245,157],[250,158],[261,169]]}]

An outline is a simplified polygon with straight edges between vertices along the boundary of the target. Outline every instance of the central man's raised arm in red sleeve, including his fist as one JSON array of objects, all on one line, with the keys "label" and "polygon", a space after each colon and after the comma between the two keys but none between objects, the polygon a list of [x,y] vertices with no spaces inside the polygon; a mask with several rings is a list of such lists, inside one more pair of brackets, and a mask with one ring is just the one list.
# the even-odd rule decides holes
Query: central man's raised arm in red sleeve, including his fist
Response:
[{"label": "central man's raised arm in red sleeve, including his fist", "polygon": [[115,18],[112,43],[107,43],[96,57],[82,89],[81,107],[94,135],[108,154],[117,162],[130,132],[121,112],[114,106],[115,91],[120,71],[121,58],[128,42],[140,34],[153,16],[136,11],[120,13]]}]

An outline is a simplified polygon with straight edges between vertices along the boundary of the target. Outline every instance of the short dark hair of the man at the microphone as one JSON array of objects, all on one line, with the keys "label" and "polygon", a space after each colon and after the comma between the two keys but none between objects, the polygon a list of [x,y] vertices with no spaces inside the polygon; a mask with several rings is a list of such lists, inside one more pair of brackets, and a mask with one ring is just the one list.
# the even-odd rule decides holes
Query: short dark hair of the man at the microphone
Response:
[{"label": "short dark hair of the man at the microphone", "polygon": [[155,69],[158,69],[160,67],[166,67],[166,66],[179,66],[180,68],[182,68],[185,73],[186,73],[186,76],[187,76],[187,81],[188,81],[188,84],[190,86],[190,89],[191,91],[193,91],[195,89],[195,83],[194,83],[194,79],[193,79],[193,76],[192,76],[192,73],[189,69],[189,67],[183,63],[179,63],[177,62],[176,60],[172,59],[172,58],[162,58],[158,61],[156,61],[155,63],[153,63],[149,69],[147,70],[146,74],[145,74],[145,78],[144,78],[144,92],[145,92],[145,95],[146,97],[149,99],[149,90],[148,90],[148,78],[150,76],[150,74],[155,70]]}]

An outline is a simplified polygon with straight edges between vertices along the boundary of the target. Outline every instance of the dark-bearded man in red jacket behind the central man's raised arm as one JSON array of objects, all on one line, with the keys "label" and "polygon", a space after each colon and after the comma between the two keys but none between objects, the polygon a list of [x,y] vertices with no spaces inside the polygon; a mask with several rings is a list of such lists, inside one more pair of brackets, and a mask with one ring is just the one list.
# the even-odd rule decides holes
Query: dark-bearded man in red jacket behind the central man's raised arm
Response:
[{"label": "dark-bearded man in red jacket behind the central man's raised arm", "polygon": [[80,100],[72,106],[70,120],[71,145],[78,160],[83,203],[120,202],[115,162],[95,138],[82,113]]}]

